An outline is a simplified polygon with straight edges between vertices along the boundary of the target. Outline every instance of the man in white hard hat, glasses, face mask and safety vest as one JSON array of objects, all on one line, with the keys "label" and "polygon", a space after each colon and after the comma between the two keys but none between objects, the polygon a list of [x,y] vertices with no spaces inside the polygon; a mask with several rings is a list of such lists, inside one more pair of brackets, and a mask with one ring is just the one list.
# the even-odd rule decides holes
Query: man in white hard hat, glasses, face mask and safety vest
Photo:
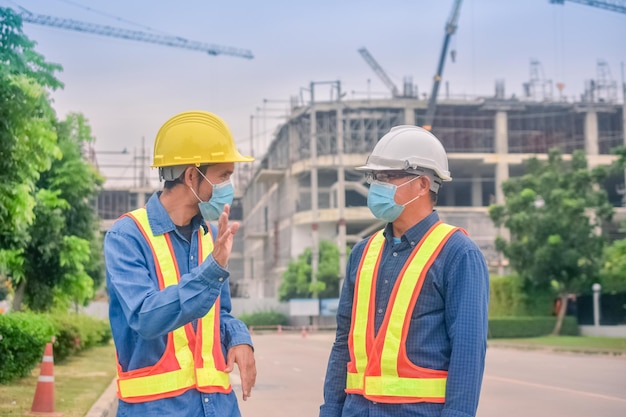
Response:
[{"label": "man in white hard hat, glasses, face mask and safety vest", "polygon": [[475,416],[489,276],[477,245],[434,210],[452,180],[444,147],[397,126],[357,169],[386,224],[350,254],[320,416]]}]

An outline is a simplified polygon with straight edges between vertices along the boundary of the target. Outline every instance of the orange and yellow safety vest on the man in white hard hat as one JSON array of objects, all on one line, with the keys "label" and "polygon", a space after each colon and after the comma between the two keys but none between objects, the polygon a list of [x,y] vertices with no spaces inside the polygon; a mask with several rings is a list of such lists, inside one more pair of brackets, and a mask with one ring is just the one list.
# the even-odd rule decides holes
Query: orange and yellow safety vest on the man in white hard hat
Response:
[{"label": "orange and yellow safety vest on the man in white hard hat", "polygon": [[376,278],[385,237],[381,230],[370,238],[361,257],[354,289],[348,335],[347,393],[382,403],[445,402],[448,372],[410,362],[406,339],[426,273],[456,230],[462,229],[437,222],[413,249],[396,280],[376,336]]}]

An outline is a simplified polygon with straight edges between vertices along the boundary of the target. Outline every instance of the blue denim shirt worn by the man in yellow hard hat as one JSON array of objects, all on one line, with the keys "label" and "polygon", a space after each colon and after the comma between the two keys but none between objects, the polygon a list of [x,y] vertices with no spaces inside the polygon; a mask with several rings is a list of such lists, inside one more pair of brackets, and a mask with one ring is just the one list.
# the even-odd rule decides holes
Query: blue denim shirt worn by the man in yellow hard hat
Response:
[{"label": "blue denim shirt worn by the man in yellow hard hat", "polygon": [[[167,334],[204,316],[220,298],[222,350],[252,340],[247,327],[230,314],[229,272],[212,255],[198,266],[198,231],[208,228],[200,216],[192,219],[188,242],[177,230],[155,193],[146,204],[155,235],[170,233],[180,270],[178,285],[159,290],[152,251],[135,222],[118,219],[104,240],[109,319],[119,364],[123,371],[154,365],[165,351]],[[213,236],[217,228],[211,225]],[[130,404],[119,402],[123,416],[240,416],[235,392],[204,394],[191,389],[178,397]]]}]

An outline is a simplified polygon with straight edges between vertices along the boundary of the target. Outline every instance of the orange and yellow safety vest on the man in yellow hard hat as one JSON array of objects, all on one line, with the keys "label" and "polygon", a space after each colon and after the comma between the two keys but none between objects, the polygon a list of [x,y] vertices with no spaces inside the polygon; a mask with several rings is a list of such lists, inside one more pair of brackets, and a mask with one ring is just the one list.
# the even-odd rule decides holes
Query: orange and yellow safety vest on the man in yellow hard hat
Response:
[{"label": "orange and yellow safety vest on the man in yellow hard hat", "polygon": [[[145,208],[126,216],[137,227],[152,249],[159,289],[178,284],[180,271],[169,233],[155,236]],[[198,264],[213,251],[213,237],[203,234],[198,240]],[[167,335],[163,356],[152,366],[123,372],[117,365],[117,393],[121,400],[141,403],[175,397],[195,388],[201,392],[229,393],[232,390],[220,340],[220,299],[198,320],[194,331],[191,323]]]}]

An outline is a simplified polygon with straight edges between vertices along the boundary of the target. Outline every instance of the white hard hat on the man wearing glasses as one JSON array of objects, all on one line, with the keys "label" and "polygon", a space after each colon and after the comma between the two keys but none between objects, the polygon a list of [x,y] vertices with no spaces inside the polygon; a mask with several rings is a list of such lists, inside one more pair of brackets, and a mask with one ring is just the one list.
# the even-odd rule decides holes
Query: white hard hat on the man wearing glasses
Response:
[{"label": "white hard hat on the man wearing glasses", "polygon": [[439,139],[428,130],[412,125],[392,127],[374,146],[365,165],[355,169],[418,173],[430,170],[441,181],[452,181],[448,156]]}]

